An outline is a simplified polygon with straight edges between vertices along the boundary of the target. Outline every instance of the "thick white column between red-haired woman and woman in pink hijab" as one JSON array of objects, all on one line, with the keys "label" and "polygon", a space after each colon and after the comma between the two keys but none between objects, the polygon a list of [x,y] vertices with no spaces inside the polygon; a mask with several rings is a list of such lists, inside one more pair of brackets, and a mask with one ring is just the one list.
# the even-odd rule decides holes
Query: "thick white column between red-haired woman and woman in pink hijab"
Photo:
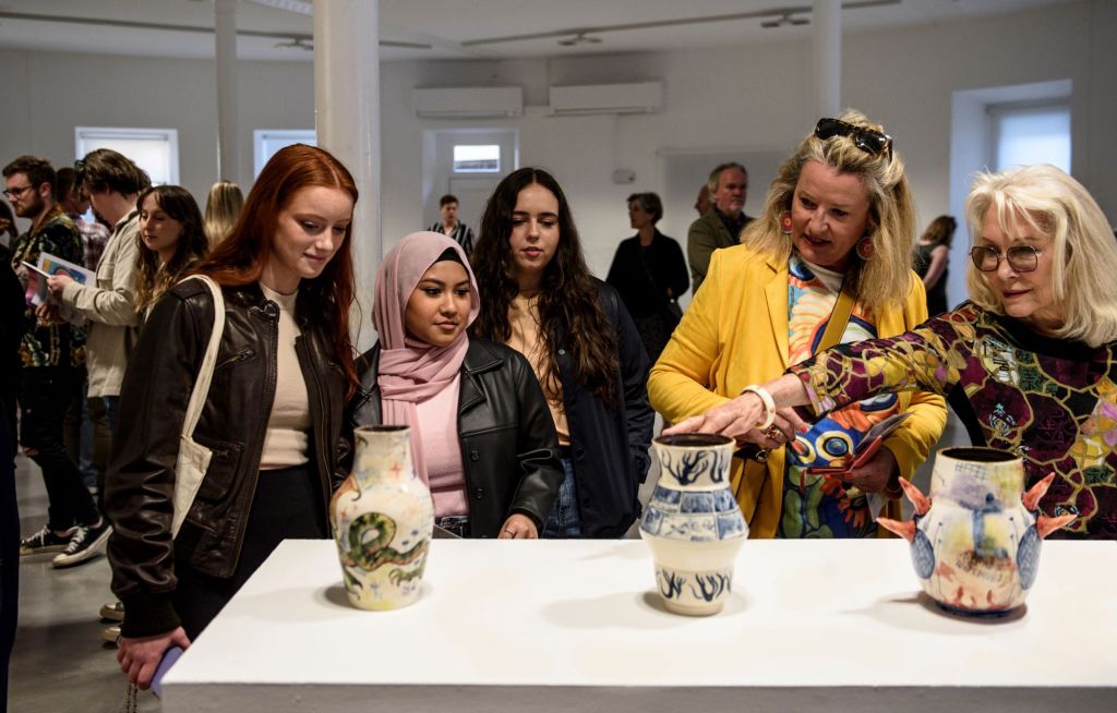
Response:
[{"label": "thick white column between red-haired woman and woman in pink hijab", "polygon": [[318,145],[353,174],[360,309],[351,315],[357,348],[372,345],[372,287],[383,257],[380,225],[380,0],[315,0],[314,108]]}]

